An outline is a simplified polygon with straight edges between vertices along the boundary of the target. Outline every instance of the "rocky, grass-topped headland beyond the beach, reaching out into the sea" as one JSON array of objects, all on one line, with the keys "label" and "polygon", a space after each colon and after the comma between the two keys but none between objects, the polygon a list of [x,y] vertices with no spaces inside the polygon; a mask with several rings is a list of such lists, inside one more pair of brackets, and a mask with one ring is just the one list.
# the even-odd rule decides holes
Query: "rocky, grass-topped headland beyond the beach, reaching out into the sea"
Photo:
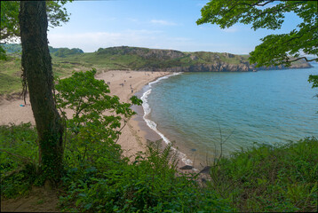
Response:
[{"label": "rocky, grass-topped headland beyond the beach, reaching out into the sea", "polygon": [[249,56],[210,51],[182,52],[138,47],[111,47],[96,52],[98,57],[113,60],[127,69],[168,72],[255,72],[287,68],[312,67],[305,60],[292,63],[291,67],[255,67]]}]

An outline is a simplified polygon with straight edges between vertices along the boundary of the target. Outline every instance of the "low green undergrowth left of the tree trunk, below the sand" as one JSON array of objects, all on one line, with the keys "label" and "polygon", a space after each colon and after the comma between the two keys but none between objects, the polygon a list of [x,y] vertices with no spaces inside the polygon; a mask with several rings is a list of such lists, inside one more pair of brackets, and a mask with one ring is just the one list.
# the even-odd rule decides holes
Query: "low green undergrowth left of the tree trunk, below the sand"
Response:
[{"label": "low green undergrowth left of the tree trunk, below the sand", "polygon": [[28,193],[36,179],[36,130],[31,123],[0,126],[1,195]]}]

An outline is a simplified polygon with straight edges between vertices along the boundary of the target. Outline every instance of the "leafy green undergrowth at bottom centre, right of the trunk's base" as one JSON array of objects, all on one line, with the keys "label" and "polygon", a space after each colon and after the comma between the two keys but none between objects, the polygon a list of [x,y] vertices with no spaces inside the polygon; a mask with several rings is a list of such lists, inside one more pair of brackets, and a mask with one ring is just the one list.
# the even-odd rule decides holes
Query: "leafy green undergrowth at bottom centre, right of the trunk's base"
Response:
[{"label": "leafy green undergrowth at bottom centre, right of the trunk's base", "polygon": [[[74,180],[64,179],[61,198],[66,211],[89,212],[213,212],[229,211],[228,203],[198,186],[193,175],[177,175],[171,146],[148,146],[136,161],[114,163],[108,170],[90,169]],[[72,203],[75,203],[75,205]]]}]

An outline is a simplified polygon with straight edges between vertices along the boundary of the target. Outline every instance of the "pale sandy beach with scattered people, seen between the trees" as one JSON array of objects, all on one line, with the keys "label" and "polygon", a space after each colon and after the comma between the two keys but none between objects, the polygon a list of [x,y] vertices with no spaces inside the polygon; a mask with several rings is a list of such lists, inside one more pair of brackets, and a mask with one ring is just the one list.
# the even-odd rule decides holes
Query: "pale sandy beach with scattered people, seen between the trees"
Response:
[{"label": "pale sandy beach with scattered people, seen between the trees", "polygon": [[[131,96],[140,91],[147,83],[155,81],[156,78],[163,75],[170,74],[168,72],[107,71],[96,75],[96,78],[104,80],[105,83],[108,82],[110,93],[118,96],[121,101],[128,102]],[[26,106],[20,105],[24,105],[23,99],[2,100],[0,104],[0,125],[20,124],[20,122],[35,124],[28,98]],[[142,120],[143,114],[140,113],[143,113],[143,111],[140,108],[137,110],[139,114],[134,115],[127,122],[118,140],[118,144],[123,148],[123,154],[131,157],[131,159],[137,152],[146,150],[147,139],[155,140],[160,138]],[[68,114],[68,116],[71,116],[71,114]]]}]

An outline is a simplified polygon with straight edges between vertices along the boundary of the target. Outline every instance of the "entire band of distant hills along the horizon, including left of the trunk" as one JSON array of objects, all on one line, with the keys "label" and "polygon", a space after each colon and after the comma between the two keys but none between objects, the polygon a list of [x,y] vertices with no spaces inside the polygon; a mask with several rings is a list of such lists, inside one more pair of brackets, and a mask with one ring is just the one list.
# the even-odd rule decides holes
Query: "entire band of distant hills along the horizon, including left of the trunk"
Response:
[{"label": "entire band of distant hills along the horizon, including left of the trunk", "polygon": [[[20,51],[20,44],[4,44],[8,52]],[[81,49],[49,47],[53,62],[78,64],[84,67],[102,67],[106,70],[144,70],[168,72],[249,72],[260,69],[285,69],[312,67],[304,59],[293,62],[291,67],[255,67],[248,55],[227,52],[173,51],[139,47],[118,46],[99,48],[84,53]]]}]

